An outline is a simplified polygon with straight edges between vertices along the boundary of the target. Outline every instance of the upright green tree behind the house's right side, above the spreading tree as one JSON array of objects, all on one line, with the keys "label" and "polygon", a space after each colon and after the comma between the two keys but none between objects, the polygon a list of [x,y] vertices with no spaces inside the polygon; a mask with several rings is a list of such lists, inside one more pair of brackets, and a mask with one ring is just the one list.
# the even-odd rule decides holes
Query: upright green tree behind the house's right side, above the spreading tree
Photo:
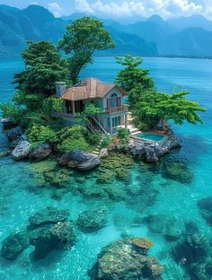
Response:
[{"label": "upright green tree behind the house's right side, above the spreading tree", "polygon": [[131,105],[137,100],[134,99],[134,96],[130,95],[130,91],[137,85],[141,85],[144,90],[154,88],[154,81],[148,75],[149,70],[140,67],[143,63],[141,57],[127,55],[126,57],[116,58],[117,63],[121,66],[125,66],[125,68],[119,71],[115,83],[118,83],[119,86],[129,93],[128,101],[129,105]]}]

